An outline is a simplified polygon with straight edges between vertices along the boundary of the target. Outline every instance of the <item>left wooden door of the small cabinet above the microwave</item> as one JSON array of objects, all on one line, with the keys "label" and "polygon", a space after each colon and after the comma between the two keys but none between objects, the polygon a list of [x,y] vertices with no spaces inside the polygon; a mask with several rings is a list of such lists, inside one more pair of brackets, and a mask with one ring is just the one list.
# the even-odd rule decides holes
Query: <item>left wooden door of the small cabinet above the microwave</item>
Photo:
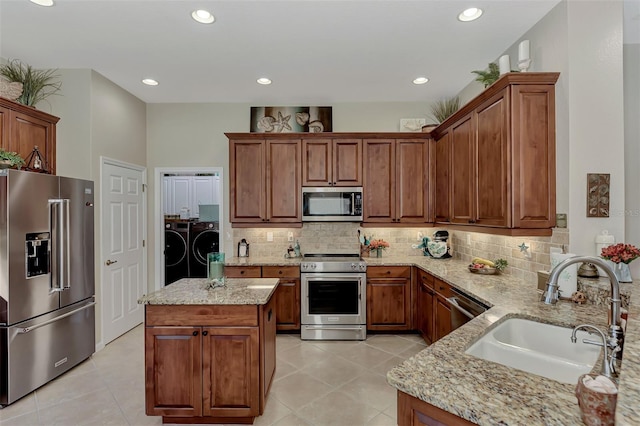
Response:
[{"label": "left wooden door of the small cabinet above the microwave", "polygon": [[330,186],[332,140],[302,140],[302,186]]}]

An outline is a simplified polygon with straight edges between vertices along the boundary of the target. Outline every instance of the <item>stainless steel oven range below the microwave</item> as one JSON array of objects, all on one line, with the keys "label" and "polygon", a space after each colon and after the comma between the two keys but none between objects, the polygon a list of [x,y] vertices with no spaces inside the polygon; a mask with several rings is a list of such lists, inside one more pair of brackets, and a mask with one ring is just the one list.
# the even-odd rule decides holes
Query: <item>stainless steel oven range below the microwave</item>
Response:
[{"label": "stainless steel oven range below the microwave", "polygon": [[365,340],[367,264],[359,254],[305,254],[300,263],[303,340]]}]

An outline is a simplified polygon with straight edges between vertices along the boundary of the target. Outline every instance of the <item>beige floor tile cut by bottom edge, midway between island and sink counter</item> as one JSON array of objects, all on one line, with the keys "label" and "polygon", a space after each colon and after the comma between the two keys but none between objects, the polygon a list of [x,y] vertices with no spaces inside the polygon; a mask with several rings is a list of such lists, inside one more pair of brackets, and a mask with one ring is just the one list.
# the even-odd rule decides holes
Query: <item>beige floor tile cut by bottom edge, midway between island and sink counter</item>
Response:
[{"label": "beige floor tile cut by bottom edge, midway between island and sink counter", "polygon": [[360,399],[334,391],[300,408],[296,414],[313,425],[348,426],[365,425],[379,412]]}]

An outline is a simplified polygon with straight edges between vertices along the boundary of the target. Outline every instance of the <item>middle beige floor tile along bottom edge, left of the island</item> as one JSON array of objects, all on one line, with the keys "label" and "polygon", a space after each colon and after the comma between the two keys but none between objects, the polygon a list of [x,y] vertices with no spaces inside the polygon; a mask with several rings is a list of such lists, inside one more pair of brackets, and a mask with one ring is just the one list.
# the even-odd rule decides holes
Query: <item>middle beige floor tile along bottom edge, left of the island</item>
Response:
[{"label": "middle beige floor tile along bottom edge, left of the island", "polygon": [[42,426],[126,425],[122,411],[108,389],[85,394],[40,410]]}]

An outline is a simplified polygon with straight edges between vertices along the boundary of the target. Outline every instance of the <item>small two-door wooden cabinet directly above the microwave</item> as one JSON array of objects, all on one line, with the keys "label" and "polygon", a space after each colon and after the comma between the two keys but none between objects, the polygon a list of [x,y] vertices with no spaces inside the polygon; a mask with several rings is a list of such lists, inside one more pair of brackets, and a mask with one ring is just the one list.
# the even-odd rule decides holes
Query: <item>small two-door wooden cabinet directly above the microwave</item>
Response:
[{"label": "small two-door wooden cabinet directly above the microwave", "polygon": [[362,139],[303,139],[302,186],[362,186]]}]

